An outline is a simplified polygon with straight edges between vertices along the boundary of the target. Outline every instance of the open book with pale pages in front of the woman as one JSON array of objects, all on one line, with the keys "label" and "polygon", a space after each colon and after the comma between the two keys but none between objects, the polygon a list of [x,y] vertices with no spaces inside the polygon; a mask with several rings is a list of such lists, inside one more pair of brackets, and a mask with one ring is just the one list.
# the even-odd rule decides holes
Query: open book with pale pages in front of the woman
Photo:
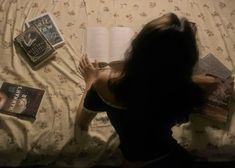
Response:
[{"label": "open book with pale pages in front of the woman", "polygon": [[86,34],[86,53],[91,61],[110,63],[121,61],[134,32],[129,27],[91,27]]}]

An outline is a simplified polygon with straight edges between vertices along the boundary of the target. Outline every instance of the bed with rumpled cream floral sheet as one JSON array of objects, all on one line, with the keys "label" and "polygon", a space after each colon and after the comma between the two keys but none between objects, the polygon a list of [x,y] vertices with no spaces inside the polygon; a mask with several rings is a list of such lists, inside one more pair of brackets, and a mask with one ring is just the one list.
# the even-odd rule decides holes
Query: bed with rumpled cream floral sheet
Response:
[{"label": "bed with rumpled cream floral sheet", "polygon": [[[13,39],[25,20],[45,12],[52,14],[65,45],[35,71],[16,53]],[[97,115],[89,132],[75,122],[85,86],[78,67],[85,28],[129,26],[138,32],[167,12],[197,24],[201,57],[213,53],[235,72],[234,0],[0,0],[0,80],[46,91],[33,121],[0,114],[0,166],[119,164],[118,136],[105,113]],[[233,113],[227,124],[194,115],[172,130],[182,146],[209,161],[235,160]]]}]

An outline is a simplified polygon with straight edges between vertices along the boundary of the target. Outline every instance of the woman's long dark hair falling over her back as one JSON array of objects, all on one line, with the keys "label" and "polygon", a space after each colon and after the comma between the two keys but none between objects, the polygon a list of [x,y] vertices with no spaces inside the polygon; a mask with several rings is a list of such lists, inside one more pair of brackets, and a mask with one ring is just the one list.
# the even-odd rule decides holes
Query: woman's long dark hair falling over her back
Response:
[{"label": "woman's long dark hair falling over her back", "polygon": [[143,27],[109,88],[131,115],[147,113],[179,122],[202,104],[202,92],[192,81],[197,60],[190,22],[169,13]]}]

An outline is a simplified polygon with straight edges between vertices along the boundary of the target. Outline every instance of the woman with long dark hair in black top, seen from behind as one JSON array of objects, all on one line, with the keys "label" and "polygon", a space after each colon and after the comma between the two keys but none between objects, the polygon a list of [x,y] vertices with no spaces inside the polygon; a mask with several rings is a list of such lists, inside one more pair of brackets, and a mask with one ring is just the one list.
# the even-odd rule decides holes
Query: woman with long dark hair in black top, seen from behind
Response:
[{"label": "woman with long dark hair in black top, seen from behind", "polygon": [[78,124],[87,130],[96,113],[106,111],[120,138],[121,167],[190,167],[193,158],[177,144],[171,128],[188,121],[203,103],[192,81],[197,60],[192,25],[172,13],[143,27],[120,71],[100,72],[83,56],[86,92]]}]

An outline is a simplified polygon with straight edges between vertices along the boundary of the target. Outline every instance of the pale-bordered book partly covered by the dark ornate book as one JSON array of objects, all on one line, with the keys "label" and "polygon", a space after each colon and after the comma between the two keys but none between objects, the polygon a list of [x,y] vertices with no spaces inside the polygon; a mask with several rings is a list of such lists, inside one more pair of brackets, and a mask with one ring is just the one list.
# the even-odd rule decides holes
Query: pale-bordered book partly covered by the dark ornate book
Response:
[{"label": "pale-bordered book partly covered by the dark ornate book", "polygon": [[36,25],[54,48],[58,48],[64,44],[64,38],[50,13],[43,13],[42,15],[26,20],[25,24],[27,27]]}]

